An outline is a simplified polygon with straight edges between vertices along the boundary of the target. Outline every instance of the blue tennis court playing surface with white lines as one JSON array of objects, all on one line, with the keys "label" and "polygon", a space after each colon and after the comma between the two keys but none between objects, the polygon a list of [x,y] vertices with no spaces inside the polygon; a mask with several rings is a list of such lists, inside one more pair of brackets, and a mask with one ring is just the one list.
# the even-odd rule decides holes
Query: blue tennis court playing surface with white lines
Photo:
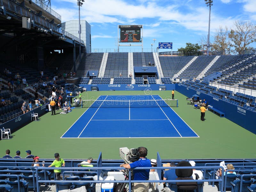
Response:
[{"label": "blue tennis court playing surface with white lines", "polygon": [[199,137],[159,95],[101,95],[61,138]]}]

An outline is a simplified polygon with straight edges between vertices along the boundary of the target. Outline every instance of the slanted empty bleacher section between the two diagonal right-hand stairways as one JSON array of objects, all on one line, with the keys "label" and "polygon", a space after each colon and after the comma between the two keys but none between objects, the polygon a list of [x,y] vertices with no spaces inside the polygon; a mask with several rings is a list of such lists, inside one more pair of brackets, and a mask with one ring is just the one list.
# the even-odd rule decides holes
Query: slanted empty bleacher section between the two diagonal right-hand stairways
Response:
[{"label": "slanted empty bleacher section between the two diagonal right-hand stairways", "polygon": [[177,78],[189,79],[197,77],[215,56],[198,56]]}]

